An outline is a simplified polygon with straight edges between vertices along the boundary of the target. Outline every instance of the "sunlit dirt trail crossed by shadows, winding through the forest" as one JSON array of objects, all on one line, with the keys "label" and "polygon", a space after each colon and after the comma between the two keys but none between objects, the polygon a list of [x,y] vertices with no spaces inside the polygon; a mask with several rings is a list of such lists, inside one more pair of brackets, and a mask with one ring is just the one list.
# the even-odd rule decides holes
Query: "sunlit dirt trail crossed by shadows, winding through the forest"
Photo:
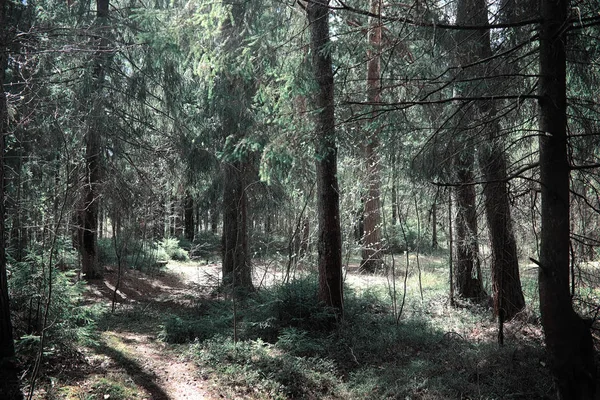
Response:
[{"label": "sunlit dirt trail crossed by shadows, winding through the forest", "polygon": [[[143,274],[127,270],[119,283],[115,313],[99,324],[98,345],[87,350],[90,374],[78,386],[104,398],[132,400],[215,399],[210,381],[185,355],[183,347],[159,340],[166,316],[176,316],[218,279],[217,265],[169,265],[166,271]],[[117,273],[90,285],[90,300],[111,303]],[[114,384],[129,394],[112,396]],[[103,384],[98,384],[103,382]],[[100,393],[102,391],[106,393]],[[106,397],[108,396],[108,397]],[[95,398],[95,397],[94,397]]]}]

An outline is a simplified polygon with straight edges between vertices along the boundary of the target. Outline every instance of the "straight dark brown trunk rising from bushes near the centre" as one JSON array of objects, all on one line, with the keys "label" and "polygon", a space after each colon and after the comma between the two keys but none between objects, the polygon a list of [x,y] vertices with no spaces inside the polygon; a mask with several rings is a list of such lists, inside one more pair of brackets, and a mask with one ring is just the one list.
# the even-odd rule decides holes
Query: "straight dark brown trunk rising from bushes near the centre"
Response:
[{"label": "straight dark brown trunk rising from bushes near the centre", "polygon": [[337,147],[333,103],[333,69],[328,50],[329,1],[308,2],[310,49],[318,91],[315,98],[317,239],[319,265],[319,300],[341,315],[344,307],[342,286],[342,234],[340,228],[339,190],[337,182]]}]

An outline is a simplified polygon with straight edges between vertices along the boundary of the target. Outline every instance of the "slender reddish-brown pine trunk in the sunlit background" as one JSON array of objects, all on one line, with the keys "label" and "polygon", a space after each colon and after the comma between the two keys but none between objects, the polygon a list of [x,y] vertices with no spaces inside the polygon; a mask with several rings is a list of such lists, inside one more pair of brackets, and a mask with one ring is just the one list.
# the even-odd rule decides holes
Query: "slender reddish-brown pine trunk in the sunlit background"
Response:
[{"label": "slender reddish-brown pine trunk in the sunlit background", "polygon": [[[371,13],[380,15],[381,0],[371,0]],[[372,120],[377,117],[375,107],[381,102],[381,18],[369,18],[367,50],[367,102],[374,108]],[[381,267],[381,179],[379,176],[378,128],[367,128],[364,143],[367,171],[367,197],[365,199],[364,238],[361,269],[373,272]]]}]

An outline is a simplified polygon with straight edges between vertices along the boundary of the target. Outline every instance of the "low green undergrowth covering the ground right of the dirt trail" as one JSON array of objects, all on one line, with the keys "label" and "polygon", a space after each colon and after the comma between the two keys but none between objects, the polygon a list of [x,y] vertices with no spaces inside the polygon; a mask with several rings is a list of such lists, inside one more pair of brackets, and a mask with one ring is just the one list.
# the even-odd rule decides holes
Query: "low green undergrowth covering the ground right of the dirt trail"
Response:
[{"label": "low green undergrowth covering the ground right of the dirt trail", "polygon": [[[536,315],[506,327],[496,344],[491,311],[449,306],[447,271],[439,257],[420,257],[421,285],[409,259],[389,276],[347,275],[344,321],[325,329],[308,274],[236,304],[210,299],[186,315],[167,317],[161,337],[190,343],[203,375],[225,398],[255,399],[542,399],[551,380],[544,367]],[[351,269],[351,268],[350,268]],[[533,286],[523,274],[524,286]],[[367,282],[367,283],[365,283]],[[528,286],[529,285],[529,286]],[[423,297],[421,298],[421,288]],[[526,289],[530,302],[533,290]],[[233,342],[235,331],[237,343]]]}]

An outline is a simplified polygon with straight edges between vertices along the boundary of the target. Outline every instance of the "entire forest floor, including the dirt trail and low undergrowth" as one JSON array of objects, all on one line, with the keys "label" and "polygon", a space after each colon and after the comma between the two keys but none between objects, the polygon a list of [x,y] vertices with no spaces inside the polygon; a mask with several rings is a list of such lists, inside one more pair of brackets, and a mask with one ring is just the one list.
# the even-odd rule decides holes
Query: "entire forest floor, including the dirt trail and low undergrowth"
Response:
[{"label": "entire forest floor, including the dirt trail and low undergrowth", "polygon": [[118,274],[108,269],[85,295],[87,306],[104,310],[95,337],[74,360],[48,368],[34,399],[546,398],[541,329],[529,310],[506,325],[508,344],[498,347],[489,308],[450,307],[443,259],[423,257],[410,274],[398,261],[392,277],[349,264],[345,324],[333,334],[319,331],[300,270],[296,286],[281,290],[274,283],[285,274],[274,263],[255,265],[256,286],[265,290],[238,305],[234,333],[219,264],[127,270],[116,297]]}]

